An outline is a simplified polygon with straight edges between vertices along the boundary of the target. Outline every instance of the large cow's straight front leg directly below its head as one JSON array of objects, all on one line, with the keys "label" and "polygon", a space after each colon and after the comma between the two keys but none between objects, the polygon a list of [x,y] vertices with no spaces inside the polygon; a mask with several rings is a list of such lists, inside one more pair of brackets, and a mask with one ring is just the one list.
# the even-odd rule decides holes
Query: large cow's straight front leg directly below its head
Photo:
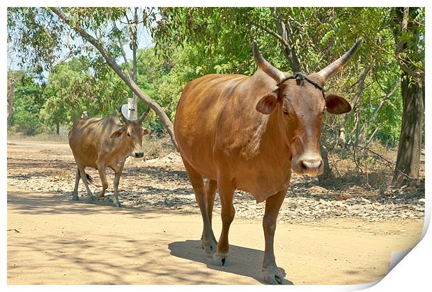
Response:
[{"label": "large cow's straight front leg directly below its head", "polygon": [[279,191],[276,195],[272,195],[265,200],[265,214],[263,218],[263,229],[265,237],[265,251],[263,261],[263,275],[265,282],[268,284],[282,284],[284,272],[276,266],[275,251],[273,250],[276,219],[286,189]]}]

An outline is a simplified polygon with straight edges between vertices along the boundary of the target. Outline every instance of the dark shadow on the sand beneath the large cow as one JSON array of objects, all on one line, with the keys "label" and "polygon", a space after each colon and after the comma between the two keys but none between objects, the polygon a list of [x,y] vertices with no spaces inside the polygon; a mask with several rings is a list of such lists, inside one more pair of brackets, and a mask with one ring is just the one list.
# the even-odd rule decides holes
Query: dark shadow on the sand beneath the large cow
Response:
[{"label": "dark shadow on the sand beneath the large cow", "polygon": [[[264,259],[264,252],[262,250],[242,248],[238,245],[229,245],[229,265],[215,266],[213,258],[206,255],[201,248],[201,241],[176,241],[169,243],[168,248],[171,250],[170,254],[175,257],[205,263],[207,268],[245,277],[252,277],[262,284],[266,284],[263,279],[263,274],[261,273],[261,266]],[[285,270],[281,270],[285,274]],[[284,279],[283,284],[292,285],[293,282]]]}]

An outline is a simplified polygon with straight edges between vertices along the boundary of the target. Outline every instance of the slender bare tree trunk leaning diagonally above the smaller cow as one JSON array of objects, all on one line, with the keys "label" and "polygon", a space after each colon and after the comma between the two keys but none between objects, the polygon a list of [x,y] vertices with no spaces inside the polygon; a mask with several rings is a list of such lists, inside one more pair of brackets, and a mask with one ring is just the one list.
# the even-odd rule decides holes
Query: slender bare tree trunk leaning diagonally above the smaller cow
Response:
[{"label": "slender bare tree trunk leaning diagonally above the smaller cow", "polygon": [[141,89],[139,89],[139,87],[137,86],[137,83],[135,83],[132,79],[130,79],[130,77],[128,75],[126,75],[125,72],[123,72],[123,70],[121,70],[121,67],[116,63],[116,60],[114,60],[114,58],[112,58],[109,55],[109,53],[105,50],[103,45],[98,40],[96,40],[91,35],[86,33],[86,31],[84,31],[84,29],[82,29],[81,27],[72,26],[70,24],[69,19],[63,14],[63,12],[59,8],[53,7],[51,9],[54,13],[56,13],[56,15],[59,16],[59,18],[63,22],[65,22],[65,24],[68,24],[75,32],[77,32],[79,35],[81,35],[81,37],[84,38],[84,40],[93,44],[93,46],[96,49],[98,49],[98,51],[100,52],[102,57],[105,58],[109,67],[111,67],[114,70],[114,72],[116,72],[116,74],[132,90],[132,92],[134,92],[137,95],[137,97],[139,97],[139,99],[141,99],[141,102],[144,102],[144,104],[148,104],[148,106],[150,106],[150,108],[153,109],[155,114],[160,118],[165,129],[167,129],[167,132],[168,132],[169,136],[171,137],[171,142],[173,143],[174,147],[176,147],[176,149],[178,150],[178,145],[176,142],[176,138],[174,136],[173,123],[171,122],[171,120],[169,120],[169,117],[164,112],[164,110],[160,107],[160,105],[157,104],[157,102],[155,102],[153,99],[151,99],[151,97],[146,95],[143,91],[141,91]]}]

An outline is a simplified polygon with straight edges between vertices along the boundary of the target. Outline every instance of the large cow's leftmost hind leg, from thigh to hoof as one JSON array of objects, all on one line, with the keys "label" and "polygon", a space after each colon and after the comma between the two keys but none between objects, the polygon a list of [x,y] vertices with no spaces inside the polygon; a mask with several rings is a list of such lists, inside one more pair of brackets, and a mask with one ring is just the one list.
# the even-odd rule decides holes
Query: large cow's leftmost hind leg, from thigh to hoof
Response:
[{"label": "large cow's leftmost hind leg, from thigh to hoof", "polygon": [[210,218],[207,211],[206,188],[204,186],[203,177],[192,168],[192,166],[183,159],[183,164],[187,175],[189,176],[192,188],[194,188],[195,199],[198,202],[199,210],[203,218],[203,234],[201,237],[201,247],[206,251],[206,254],[213,254],[216,251],[216,238],[213,234]]}]

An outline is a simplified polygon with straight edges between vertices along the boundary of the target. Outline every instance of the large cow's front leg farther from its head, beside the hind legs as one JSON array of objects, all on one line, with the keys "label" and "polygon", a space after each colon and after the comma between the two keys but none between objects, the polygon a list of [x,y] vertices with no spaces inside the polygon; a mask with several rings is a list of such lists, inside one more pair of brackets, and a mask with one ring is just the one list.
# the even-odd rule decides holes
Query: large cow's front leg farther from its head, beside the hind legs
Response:
[{"label": "large cow's front leg farther from its head, beside the hind legs", "polygon": [[218,177],[217,188],[219,190],[219,198],[222,205],[222,232],[220,234],[219,243],[217,243],[217,252],[213,254],[213,260],[216,266],[226,266],[228,264],[228,234],[231,222],[233,222],[236,211],[233,206],[234,185],[230,179]]}]

